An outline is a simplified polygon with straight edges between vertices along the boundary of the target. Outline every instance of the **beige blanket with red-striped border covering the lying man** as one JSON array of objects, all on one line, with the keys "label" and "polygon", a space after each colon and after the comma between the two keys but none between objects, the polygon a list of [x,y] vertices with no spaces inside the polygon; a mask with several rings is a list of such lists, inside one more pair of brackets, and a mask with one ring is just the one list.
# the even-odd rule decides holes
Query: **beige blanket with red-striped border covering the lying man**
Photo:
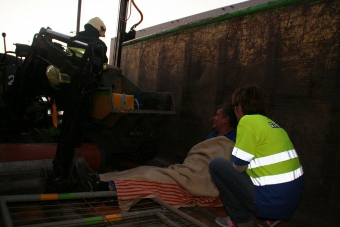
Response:
[{"label": "beige blanket with red-striped border covering the lying man", "polygon": [[216,157],[230,160],[233,146],[232,140],[218,136],[193,146],[183,164],[168,168],[140,166],[101,174],[100,180],[115,182],[122,210],[128,210],[141,198],[151,197],[158,197],[177,208],[222,206],[209,173],[209,162]]}]

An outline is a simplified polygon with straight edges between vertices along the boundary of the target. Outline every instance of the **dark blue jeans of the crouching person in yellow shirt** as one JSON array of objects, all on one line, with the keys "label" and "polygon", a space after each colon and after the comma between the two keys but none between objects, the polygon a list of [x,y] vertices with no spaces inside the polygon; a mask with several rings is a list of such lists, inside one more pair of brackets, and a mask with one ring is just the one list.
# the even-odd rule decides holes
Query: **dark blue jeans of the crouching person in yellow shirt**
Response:
[{"label": "dark blue jeans of the crouching person in yellow shirt", "polygon": [[255,186],[248,174],[237,172],[224,158],[213,159],[209,171],[230,218],[236,223],[254,221],[258,207],[253,203]]}]

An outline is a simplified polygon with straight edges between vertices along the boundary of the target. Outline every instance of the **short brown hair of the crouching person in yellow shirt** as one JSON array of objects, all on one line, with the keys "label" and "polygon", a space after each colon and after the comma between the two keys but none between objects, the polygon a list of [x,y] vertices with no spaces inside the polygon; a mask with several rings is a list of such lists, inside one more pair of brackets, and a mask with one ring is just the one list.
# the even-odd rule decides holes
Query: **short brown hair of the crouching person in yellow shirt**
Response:
[{"label": "short brown hair of the crouching person in yellow shirt", "polygon": [[254,84],[242,86],[233,93],[232,104],[241,104],[245,115],[259,113],[265,115],[264,96],[260,87]]}]

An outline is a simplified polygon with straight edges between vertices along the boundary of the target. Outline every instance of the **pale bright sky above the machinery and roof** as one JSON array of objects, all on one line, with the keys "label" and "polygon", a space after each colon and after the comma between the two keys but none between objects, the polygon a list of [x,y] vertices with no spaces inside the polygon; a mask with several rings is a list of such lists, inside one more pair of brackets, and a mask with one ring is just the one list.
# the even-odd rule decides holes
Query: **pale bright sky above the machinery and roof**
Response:
[{"label": "pale bright sky above the machinery and roof", "polygon": [[[143,21],[136,31],[157,24],[209,11],[245,0],[134,0],[143,13]],[[82,0],[80,31],[93,17],[100,17],[106,25],[103,41],[110,52],[110,40],[116,36],[120,0]],[[6,33],[6,50],[14,51],[14,43],[32,44],[34,34],[44,27],[72,35],[77,29],[78,0],[0,0],[0,33]],[[127,21],[127,31],[140,20],[133,7]],[[0,37],[0,52],[4,52]]]}]

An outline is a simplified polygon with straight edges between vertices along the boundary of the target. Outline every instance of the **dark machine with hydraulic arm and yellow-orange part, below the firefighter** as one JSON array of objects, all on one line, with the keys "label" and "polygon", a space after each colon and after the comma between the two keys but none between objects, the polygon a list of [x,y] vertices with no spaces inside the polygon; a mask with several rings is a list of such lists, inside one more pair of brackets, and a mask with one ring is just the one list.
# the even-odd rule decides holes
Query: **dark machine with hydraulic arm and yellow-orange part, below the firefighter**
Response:
[{"label": "dark machine with hydraulic arm and yellow-orange part, below the firefighter", "polygon": [[[81,58],[67,48],[75,44],[85,49]],[[104,54],[96,42],[42,28],[32,45],[16,44],[14,52],[0,55],[0,142],[57,143],[53,169],[42,171],[45,191],[92,189],[98,173],[75,159],[84,141],[99,144],[107,157],[150,159],[157,152],[153,127],[175,113],[171,93],[141,91],[118,67],[103,72]],[[51,65],[58,69],[56,79],[69,79],[51,85]],[[56,108],[63,110],[60,125]]]}]

